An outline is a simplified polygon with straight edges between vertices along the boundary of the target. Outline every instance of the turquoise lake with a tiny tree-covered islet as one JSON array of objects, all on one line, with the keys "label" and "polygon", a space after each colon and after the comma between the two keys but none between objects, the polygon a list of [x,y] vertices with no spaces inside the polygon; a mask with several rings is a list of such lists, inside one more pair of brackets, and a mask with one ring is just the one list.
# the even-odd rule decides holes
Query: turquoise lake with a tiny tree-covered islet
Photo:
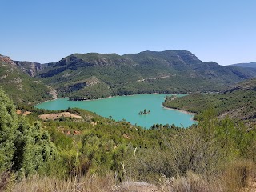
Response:
[{"label": "turquoise lake with a tiny tree-covered islet", "polygon": [[[153,124],[174,124],[175,126],[188,127],[196,123],[192,120],[193,114],[183,113],[178,110],[166,109],[162,106],[166,94],[136,94],[132,96],[117,96],[91,101],[69,101],[68,98],[58,98],[38,104],[37,108],[46,110],[66,110],[78,107],[90,110],[103,117],[116,121],[126,119],[127,122],[145,128]],[[141,110],[150,110],[150,114],[139,115]]]}]

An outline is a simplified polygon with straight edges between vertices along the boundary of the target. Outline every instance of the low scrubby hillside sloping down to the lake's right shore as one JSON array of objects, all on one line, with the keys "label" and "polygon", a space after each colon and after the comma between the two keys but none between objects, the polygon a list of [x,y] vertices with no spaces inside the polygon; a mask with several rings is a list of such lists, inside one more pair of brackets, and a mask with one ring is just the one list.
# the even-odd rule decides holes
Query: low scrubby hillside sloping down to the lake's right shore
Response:
[{"label": "low scrubby hillside sloping down to the lake's right shore", "polygon": [[[238,83],[218,94],[190,94],[182,98],[166,98],[164,106],[195,113],[214,108],[218,116],[256,120],[256,79]],[[256,121],[255,121],[256,122]]]}]

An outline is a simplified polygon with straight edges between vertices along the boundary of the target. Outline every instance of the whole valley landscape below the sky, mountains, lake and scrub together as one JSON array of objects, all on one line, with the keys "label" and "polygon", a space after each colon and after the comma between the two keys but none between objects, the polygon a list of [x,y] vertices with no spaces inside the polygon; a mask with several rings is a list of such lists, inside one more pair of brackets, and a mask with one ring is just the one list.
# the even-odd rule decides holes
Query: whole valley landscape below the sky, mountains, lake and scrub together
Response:
[{"label": "whole valley landscape below the sky, mountains, lake and scrub together", "polygon": [[142,189],[127,183],[179,191],[181,181],[194,191],[252,188],[255,79],[254,69],[185,50],[47,64],[1,56],[0,190],[11,177],[14,191],[32,187],[31,177],[50,191]]}]

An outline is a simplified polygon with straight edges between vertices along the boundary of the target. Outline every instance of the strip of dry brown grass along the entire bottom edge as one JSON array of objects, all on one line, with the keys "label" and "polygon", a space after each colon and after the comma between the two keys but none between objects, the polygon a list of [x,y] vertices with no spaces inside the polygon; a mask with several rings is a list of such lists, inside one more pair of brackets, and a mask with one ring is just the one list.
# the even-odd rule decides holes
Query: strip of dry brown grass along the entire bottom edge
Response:
[{"label": "strip of dry brown grass along the entire bottom edge", "polygon": [[[158,187],[145,182],[124,182],[117,184],[114,173],[106,176],[97,174],[86,176],[73,176],[72,178],[59,179],[56,177],[38,174],[23,178],[15,183],[12,174],[2,174],[0,191],[34,191],[34,192],[255,192],[256,177],[255,164],[250,161],[232,162],[218,173],[203,175],[188,171],[184,176],[166,178],[164,175],[159,179]],[[82,175],[82,174],[79,174]],[[2,189],[1,189],[2,184]]]}]

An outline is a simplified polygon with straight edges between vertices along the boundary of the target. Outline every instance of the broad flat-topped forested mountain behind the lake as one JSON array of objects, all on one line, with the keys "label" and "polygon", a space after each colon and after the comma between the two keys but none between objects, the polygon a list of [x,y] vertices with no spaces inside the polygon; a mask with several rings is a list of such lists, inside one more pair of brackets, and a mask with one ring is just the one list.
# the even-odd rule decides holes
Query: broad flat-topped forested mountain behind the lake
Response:
[{"label": "broad flat-topped forested mountain behind the lake", "polygon": [[217,91],[253,78],[256,70],[202,62],[185,50],[138,54],[72,54],[49,63],[37,78],[74,99],[142,93]]}]

